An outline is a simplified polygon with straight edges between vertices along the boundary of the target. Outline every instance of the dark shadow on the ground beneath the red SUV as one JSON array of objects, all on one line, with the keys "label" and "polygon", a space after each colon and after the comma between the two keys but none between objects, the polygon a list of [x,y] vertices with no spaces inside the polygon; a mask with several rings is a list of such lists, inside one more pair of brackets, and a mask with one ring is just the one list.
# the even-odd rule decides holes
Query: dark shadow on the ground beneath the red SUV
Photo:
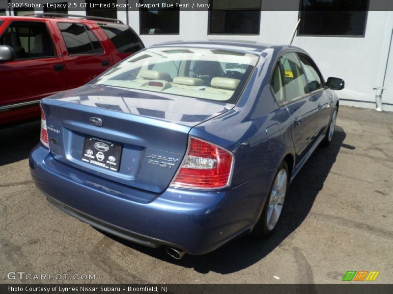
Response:
[{"label": "dark shadow on the ground beneath the red SUV", "polygon": [[0,166],[28,158],[40,142],[41,121],[0,129]]}]

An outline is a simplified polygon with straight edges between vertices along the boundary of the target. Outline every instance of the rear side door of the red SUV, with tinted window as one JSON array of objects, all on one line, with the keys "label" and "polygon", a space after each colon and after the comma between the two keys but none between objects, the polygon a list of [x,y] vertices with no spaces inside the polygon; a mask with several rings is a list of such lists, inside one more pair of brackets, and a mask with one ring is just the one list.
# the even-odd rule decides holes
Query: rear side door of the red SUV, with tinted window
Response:
[{"label": "rear side door of the red SUV, with tinted window", "polygon": [[[54,29],[62,36],[60,46],[65,62],[68,89],[84,85],[113,65],[111,52],[103,48],[99,29],[81,22],[54,22]],[[104,44],[104,43],[103,43]]]}]

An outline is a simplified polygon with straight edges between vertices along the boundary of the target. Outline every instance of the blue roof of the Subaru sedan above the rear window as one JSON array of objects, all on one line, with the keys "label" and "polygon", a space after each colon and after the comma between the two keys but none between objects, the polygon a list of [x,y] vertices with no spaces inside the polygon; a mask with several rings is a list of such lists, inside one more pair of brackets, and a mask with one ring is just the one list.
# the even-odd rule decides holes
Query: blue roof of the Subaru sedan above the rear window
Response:
[{"label": "blue roof of the Subaru sedan above the rear window", "polygon": [[209,41],[172,41],[155,44],[151,47],[200,47],[200,48],[212,48],[212,49],[226,49],[226,50],[240,50],[250,53],[262,53],[266,49],[274,49],[275,51],[283,51],[288,49],[295,49],[306,53],[303,49],[273,43],[263,43],[254,41],[239,41],[239,40],[209,40]]}]

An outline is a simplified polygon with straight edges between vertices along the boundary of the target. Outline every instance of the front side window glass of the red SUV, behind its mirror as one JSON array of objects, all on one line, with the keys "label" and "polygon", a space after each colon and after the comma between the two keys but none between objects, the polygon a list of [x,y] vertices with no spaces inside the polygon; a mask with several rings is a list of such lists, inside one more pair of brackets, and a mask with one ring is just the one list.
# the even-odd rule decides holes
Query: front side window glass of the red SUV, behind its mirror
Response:
[{"label": "front side window glass of the red SUV, behind its mirror", "polygon": [[41,22],[13,22],[0,38],[0,45],[14,49],[17,59],[54,56],[46,25]]}]

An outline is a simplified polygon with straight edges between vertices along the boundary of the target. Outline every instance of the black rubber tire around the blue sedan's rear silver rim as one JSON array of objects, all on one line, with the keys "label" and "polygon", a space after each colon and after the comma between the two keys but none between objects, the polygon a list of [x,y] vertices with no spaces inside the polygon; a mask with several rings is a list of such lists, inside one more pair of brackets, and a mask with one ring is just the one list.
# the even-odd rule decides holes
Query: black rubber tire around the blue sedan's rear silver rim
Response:
[{"label": "black rubber tire around the blue sedan's rear silver rim", "polygon": [[[278,220],[276,221],[276,223],[273,226],[273,228],[272,227],[269,228],[269,224],[268,224],[268,221],[267,221],[268,211],[269,211],[269,204],[271,204],[270,202],[271,202],[271,198],[273,196],[272,191],[273,191],[273,188],[275,187],[277,177],[279,176],[279,173],[282,170],[284,170],[285,173],[286,173],[285,193],[284,193],[284,197],[283,197],[283,200],[282,200],[281,210],[280,210],[280,214],[279,214]],[[266,198],[266,202],[265,202],[265,205],[263,207],[261,216],[259,217],[259,220],[256,222],[256,224],[255,224],[255,226],[253,228],[253,231],[252,231],[253,236],[255,236],[257,238],[265,238],[265,237],[270,236],[274,232],[274,230],[277,227],[277,224],[280,221],[282,205],[284,203],[286,193],[288,192],[288,184],[289,184],[288,165],[286,164],[285,161],[283,161],[283,162],[281,162],[281,164],[280,164],[279,168],[277,169],[277,172],[276,172],[276,174],[274,176],[274,180],[273,180],[273,183],[272,183],[272,185],[270,187],[269,194],[268,194],[268,196]]]}]

